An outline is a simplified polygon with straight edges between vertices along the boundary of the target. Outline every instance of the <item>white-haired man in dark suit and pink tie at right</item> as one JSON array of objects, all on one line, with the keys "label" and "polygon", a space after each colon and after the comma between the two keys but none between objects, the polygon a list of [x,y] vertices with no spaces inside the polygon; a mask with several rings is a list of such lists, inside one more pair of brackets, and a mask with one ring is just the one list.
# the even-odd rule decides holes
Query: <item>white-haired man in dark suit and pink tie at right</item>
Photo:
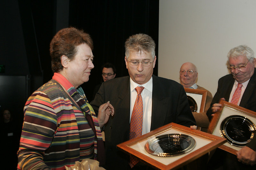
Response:
[{"label": "white-haired man in dark suit and pink tie at right", "polygon": [[[245,45],[232,48],[228,53],[228,63],[228,69],[231,71],[231,74],[219,79],[217,92],[212,99],[211,107],[207,111],[209,119],[220,109],[221,104],[218,103],[219,100],[227,100],[233,103],[233,94],[239,84],[242,85],[241,94],[234,104],[256,112],[256,59],[254,58],[253,50]],[[255,165],[255,151],[256,138],[254,137],[247,146],[237,152],[238,161],[247,165]],[[227,162],[231,160],[228,165],[229,168],[251,168],[250,166],[245,167],[245,165],[238,163],[234,159],[232,160],[232,156],[235,155],[225,156],[228,158]],[[255,167],[253,166],[253,168]]]}]

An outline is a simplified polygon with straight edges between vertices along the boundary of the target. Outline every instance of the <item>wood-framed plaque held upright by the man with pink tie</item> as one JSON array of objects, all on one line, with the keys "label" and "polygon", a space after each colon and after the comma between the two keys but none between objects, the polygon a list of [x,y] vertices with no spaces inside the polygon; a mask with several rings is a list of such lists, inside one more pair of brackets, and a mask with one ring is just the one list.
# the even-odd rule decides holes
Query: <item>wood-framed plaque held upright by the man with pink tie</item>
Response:
[{"label": "wood-framed plaque held upright by the man with pink tie", "polygon": [[209,125],[208,133],[223,137],[227,142],[219,148],[236,155],[256,134],[256,112],[224,100]]}]

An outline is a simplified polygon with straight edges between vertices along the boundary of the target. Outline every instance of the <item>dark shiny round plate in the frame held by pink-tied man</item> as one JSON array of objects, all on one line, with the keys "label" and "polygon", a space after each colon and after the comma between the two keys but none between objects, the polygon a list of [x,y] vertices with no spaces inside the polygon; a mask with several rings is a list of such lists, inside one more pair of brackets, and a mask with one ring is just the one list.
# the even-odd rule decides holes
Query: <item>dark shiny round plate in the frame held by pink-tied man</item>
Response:
[{"label": "dark shiny round plate in the frame held by pink-tied man", "polygon": [[248,144],[256,132],[255,129],[254,123],[241,115],[228,116],[220,125],[221,135],[236,146]]}]

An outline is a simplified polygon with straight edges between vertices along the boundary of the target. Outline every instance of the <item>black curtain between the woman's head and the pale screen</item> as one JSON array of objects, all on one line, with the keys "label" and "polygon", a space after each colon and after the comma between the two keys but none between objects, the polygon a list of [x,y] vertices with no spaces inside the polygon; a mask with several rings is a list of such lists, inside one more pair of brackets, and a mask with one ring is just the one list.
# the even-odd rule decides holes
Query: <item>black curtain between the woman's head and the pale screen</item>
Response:
[{"label": "black curtain between the woman's head and the pale screen", "polygon": [[[116,77],[127,76],[124,42],[136,33],[146,33],[156,42],[158,54],[158,0],[94,0],[69,2],[69,26],[83,29],[94,43],[94,69],[87,83],[82,85],[88,100],[101,80],[101,66],[111,62]],[[154,74],[157,75],[157,64]]]}]

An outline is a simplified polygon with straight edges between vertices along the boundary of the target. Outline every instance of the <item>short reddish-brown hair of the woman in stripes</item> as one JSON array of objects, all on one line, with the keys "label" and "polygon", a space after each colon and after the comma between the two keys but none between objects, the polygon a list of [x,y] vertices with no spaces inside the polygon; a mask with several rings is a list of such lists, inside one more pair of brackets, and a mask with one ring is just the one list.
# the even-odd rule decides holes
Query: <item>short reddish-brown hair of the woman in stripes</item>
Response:
[{"label": "short reddish-brown hair of the woman in stripes", "polygon": [[92,38],[83,30],[69,27],[61,29],[58,33],[56,33],[50,43],[52,71],[61,71],[63,66],[61,64],[60,57],[62,55],[66,55],[70,60],[73,60],[77,52],[77,46],[84,43],[93,50]]}]

